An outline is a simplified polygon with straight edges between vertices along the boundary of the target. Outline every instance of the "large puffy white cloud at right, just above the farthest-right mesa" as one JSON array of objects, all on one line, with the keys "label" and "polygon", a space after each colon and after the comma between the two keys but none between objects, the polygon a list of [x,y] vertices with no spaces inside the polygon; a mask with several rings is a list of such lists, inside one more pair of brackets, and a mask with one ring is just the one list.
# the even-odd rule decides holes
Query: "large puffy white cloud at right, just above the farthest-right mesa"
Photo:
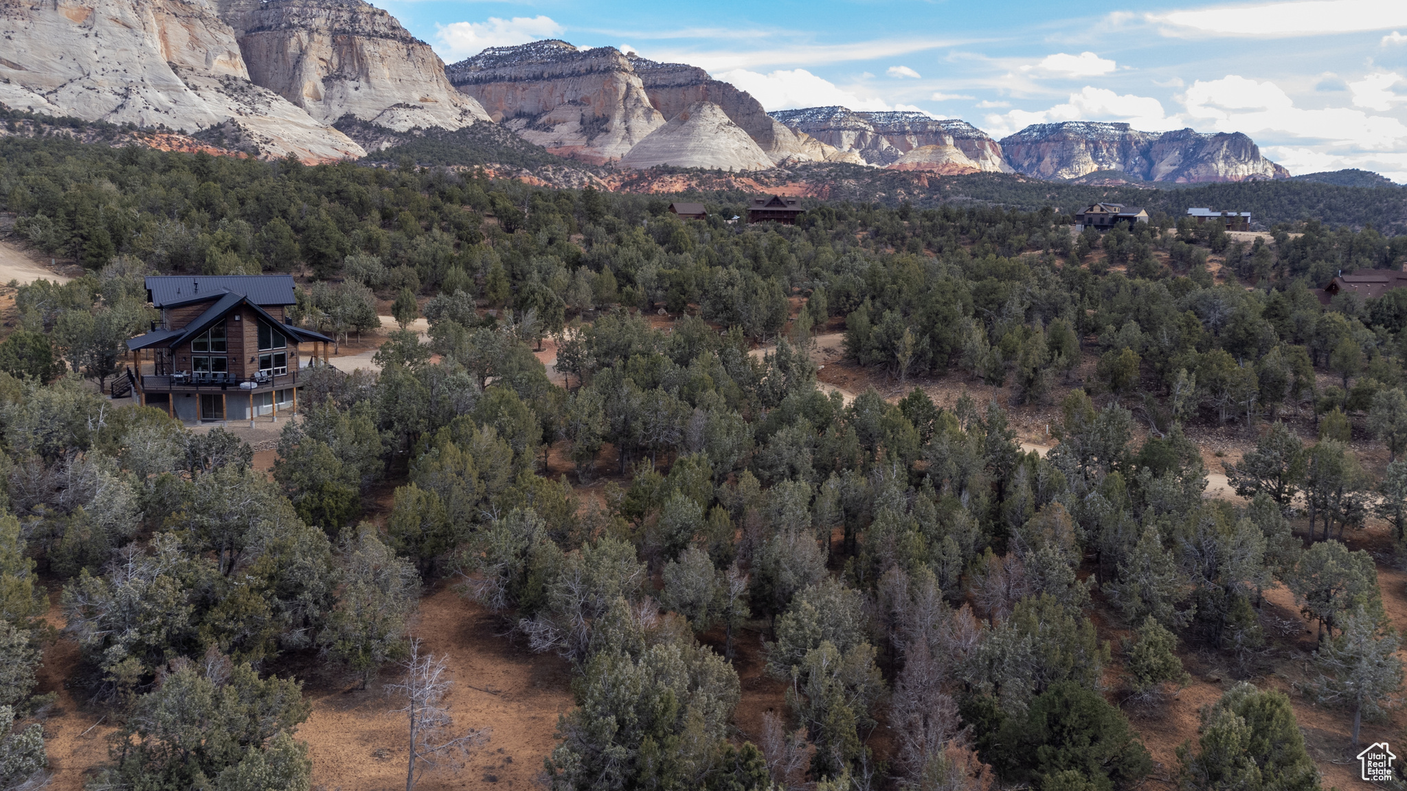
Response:
[{"label": "large puffy white cloud at right, just above the farthest-right mesa", "polygon": [[1407,145],[1407,125],[1397,118],[1349,107],[1304,110],[1294,107],[1275,83],[1237,75],[1192,83],[1183,106],[1199,120],[1197,128],[1210,125],[1218,132],[1321,139],[1341,149],[1392,151]]}]

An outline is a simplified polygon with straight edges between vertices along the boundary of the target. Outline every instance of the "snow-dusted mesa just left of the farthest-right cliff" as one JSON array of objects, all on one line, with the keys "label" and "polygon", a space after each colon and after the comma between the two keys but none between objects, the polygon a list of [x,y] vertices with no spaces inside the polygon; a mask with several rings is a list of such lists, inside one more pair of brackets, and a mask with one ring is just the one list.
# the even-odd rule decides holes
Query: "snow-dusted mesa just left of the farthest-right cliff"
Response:
[{"label": "snow-dusted mesa just left of the farthest-right cliff", "polygon": [[923,113],[855,113],[846,107],[778,110],[772,118],[870,165],[891,165],[930,145],[955,146],[979,170],[1010,173],[1002,146],[967,121],[934,120]]}]

